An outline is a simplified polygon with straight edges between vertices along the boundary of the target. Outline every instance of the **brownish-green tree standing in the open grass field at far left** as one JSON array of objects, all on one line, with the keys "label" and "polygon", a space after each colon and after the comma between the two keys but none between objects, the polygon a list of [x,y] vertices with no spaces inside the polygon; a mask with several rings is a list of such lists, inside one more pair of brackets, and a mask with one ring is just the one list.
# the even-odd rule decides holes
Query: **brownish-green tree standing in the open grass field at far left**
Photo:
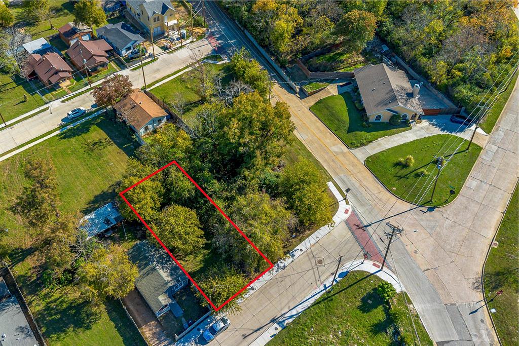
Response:
[{"label": "brownish-green tree standing in the open grass field at far left", "polygon": [[25,222],[37,229],[47,225],[58,213],[58,181],[56,168],[48,158],[32,156],[24,165],[29,185],[16,201],[16,210]]}]

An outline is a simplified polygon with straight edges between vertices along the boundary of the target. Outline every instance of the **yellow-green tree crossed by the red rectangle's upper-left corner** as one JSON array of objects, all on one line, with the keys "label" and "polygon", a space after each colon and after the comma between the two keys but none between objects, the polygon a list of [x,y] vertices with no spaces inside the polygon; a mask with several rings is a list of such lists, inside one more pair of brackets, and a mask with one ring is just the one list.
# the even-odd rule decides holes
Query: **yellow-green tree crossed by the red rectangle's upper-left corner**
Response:
[{"label": "yellow-green tree crossed by the red rectangle's upper-left corner", "polygon": [[[153,173],[153,169],[141,162],[130,159],[126,172],[121,181],[121,188],[126,189],[139,182],[143,177]],[[164,189],[160,183],[162,175],[159,173],[125,193],[125,198],[141,217],[148,223],[160,209]],[[127,220],[139,220],[125,201],[120,202],[120,213]]]}]

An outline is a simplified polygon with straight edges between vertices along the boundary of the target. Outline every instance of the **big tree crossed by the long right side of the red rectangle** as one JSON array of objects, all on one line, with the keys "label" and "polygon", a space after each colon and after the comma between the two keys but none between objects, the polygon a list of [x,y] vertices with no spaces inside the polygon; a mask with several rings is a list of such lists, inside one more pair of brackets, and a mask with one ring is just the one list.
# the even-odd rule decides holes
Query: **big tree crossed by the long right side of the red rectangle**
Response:
[{"label": "big tree crossed by the long right side of the red rectangle", "polygon": [[[294,218],[281,201],[271,200],[262,192],[248,193],[238,196],[230,210],[230,218],[271,262],[283,256],[283,242],[288,238]],[[267,266],[249,242],[228,223],[217,228],[212,244],[248,273]]]}]

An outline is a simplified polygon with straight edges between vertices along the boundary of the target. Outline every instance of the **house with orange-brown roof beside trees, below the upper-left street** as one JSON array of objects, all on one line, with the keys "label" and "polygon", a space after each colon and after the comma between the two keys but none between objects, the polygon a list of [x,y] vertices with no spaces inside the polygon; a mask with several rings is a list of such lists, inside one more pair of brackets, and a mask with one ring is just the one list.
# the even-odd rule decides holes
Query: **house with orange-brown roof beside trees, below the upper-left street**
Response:
[{"label": "house with orange-brown roof beside trees, below the upper-left street", "polygon": [[141,89],[133,89],[114,105],[114,109],[140,136],[162,126],[168,118],[166,110],[160,108]]}]

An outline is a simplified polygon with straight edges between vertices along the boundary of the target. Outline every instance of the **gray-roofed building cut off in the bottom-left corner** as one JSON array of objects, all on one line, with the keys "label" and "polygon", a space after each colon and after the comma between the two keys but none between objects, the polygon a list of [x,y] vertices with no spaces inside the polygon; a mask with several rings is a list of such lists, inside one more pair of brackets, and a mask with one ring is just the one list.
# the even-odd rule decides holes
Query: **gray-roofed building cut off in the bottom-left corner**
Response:
[{"label": "gray-roofed building cut off in the bottom-left corner", "polygon": [[[2,272],[8,273],[8,270],[3,268]],[[11,288],[16,289],[16,287]],[[33,328],[29,324],[28,317],[30,315],[28,308],[24,306],[24,309],[22,309],[24,302],[19,302],[14,293],[14,291],[11,292],[9,290],[4,276],[0,276],[0,345],[40,345],[35,337]],[[26,311],[25,313],[24,310]]]}]

